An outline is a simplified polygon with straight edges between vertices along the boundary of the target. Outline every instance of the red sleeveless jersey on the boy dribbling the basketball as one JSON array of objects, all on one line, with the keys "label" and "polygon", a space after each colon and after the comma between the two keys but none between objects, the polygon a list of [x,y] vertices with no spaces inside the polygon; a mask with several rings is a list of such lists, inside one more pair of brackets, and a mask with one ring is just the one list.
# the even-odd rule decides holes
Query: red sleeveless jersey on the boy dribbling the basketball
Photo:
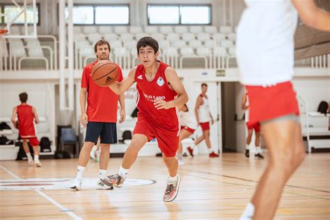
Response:
[{"label": "red sleeveless jersey on the boy dribbling the basketball", "polygon": [[137,108],[139,115],[147,116],[152,125],[162,127],[169,131],[178,131],[180,129],[178,109],[156,109],[154,100],[162,99],[166,102],[174,100],[178,95],[171,90],[165,77],[165,69],[168,67],[166,63],[159,62],[159,68],[152,81],[146,79],[145,69],[142,64],[136,67],[134,79],[136,81],[137,89]]}]

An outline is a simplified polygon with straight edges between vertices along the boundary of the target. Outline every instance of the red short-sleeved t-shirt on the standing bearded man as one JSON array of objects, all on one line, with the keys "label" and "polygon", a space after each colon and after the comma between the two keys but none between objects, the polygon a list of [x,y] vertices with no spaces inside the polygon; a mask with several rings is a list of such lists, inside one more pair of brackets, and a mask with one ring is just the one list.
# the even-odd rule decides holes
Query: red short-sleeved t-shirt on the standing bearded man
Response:
[{"label": "red short-sleeved t-shirt on the standing bearded man", "polygon": [[[92,79],[92,68],[97,60],[84,67],[81,77],[81,88],[87,88],[88,121],[101,123],[116,123],[119,95],[109,87],[97,86]],[[123,73],[118,66],[119,75],[116,81],[123,80]]]}]

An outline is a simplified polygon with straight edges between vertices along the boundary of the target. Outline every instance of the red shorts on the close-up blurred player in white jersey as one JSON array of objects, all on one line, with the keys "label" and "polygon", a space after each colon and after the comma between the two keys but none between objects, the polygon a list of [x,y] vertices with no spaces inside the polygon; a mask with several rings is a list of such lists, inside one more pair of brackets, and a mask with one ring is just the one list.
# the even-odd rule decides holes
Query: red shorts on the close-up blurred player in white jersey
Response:
[{"label": "red shorts on the close-up blurred player in white jersey", "polygon": [[249,94],[249,123],[261,123],[281,116],[299,116],[299,107],[290,81],[276,86],[245,86]]}]

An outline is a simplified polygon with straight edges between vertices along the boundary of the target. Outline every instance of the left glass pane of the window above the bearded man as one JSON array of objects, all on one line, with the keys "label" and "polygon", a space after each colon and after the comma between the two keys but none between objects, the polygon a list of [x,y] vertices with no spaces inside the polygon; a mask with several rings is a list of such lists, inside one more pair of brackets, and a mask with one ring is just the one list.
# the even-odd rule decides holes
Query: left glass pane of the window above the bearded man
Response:
[{"label": "left glass pane of the window above the bearded man", "polygon": [[[73,6],[72,8],[73,24],[93,24],[94,9],[93,6]],[[65,8],[65,20],[68,22],[69,12]]]}]

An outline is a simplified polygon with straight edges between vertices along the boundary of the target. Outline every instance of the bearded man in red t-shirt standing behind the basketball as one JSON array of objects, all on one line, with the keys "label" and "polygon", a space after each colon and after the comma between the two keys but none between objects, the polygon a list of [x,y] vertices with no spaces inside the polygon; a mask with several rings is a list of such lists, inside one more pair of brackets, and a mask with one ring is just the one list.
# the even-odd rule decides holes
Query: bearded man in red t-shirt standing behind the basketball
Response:
[{"label": "bearded man in red t-shirt standing behind the basketball", "polygon": [[[81,182],[85,167],[88,163],[91,150],[97,139],[100,136],[100,178],[105,177],[107,174],[107,166],[109,164],[110,144],[117,143],[117,107],[118,100],[120,103],[120,120],[123,123],[125,120],[125,96],[116,95],[108,87],[97,86],[92,79],[92,68],[97,61],[108,60],[111,47],[106,40],[99,40],[94,46],[95,55],[97,59],[84,67],[81,77],[81,90],[80,90],[80,111],[81,111],[81,124],[86,128],[86,138],[84,146],[81,148],[78,162],[78,173],[71,189],[81,189]],[[119,76],[117,81],[123,80],[123,74],[118,66]],[[87,109],[86,109],[87,100]],[[106,189],[112,189],[107,187]],[[100,188],[97,185],[97,189]]]}]

